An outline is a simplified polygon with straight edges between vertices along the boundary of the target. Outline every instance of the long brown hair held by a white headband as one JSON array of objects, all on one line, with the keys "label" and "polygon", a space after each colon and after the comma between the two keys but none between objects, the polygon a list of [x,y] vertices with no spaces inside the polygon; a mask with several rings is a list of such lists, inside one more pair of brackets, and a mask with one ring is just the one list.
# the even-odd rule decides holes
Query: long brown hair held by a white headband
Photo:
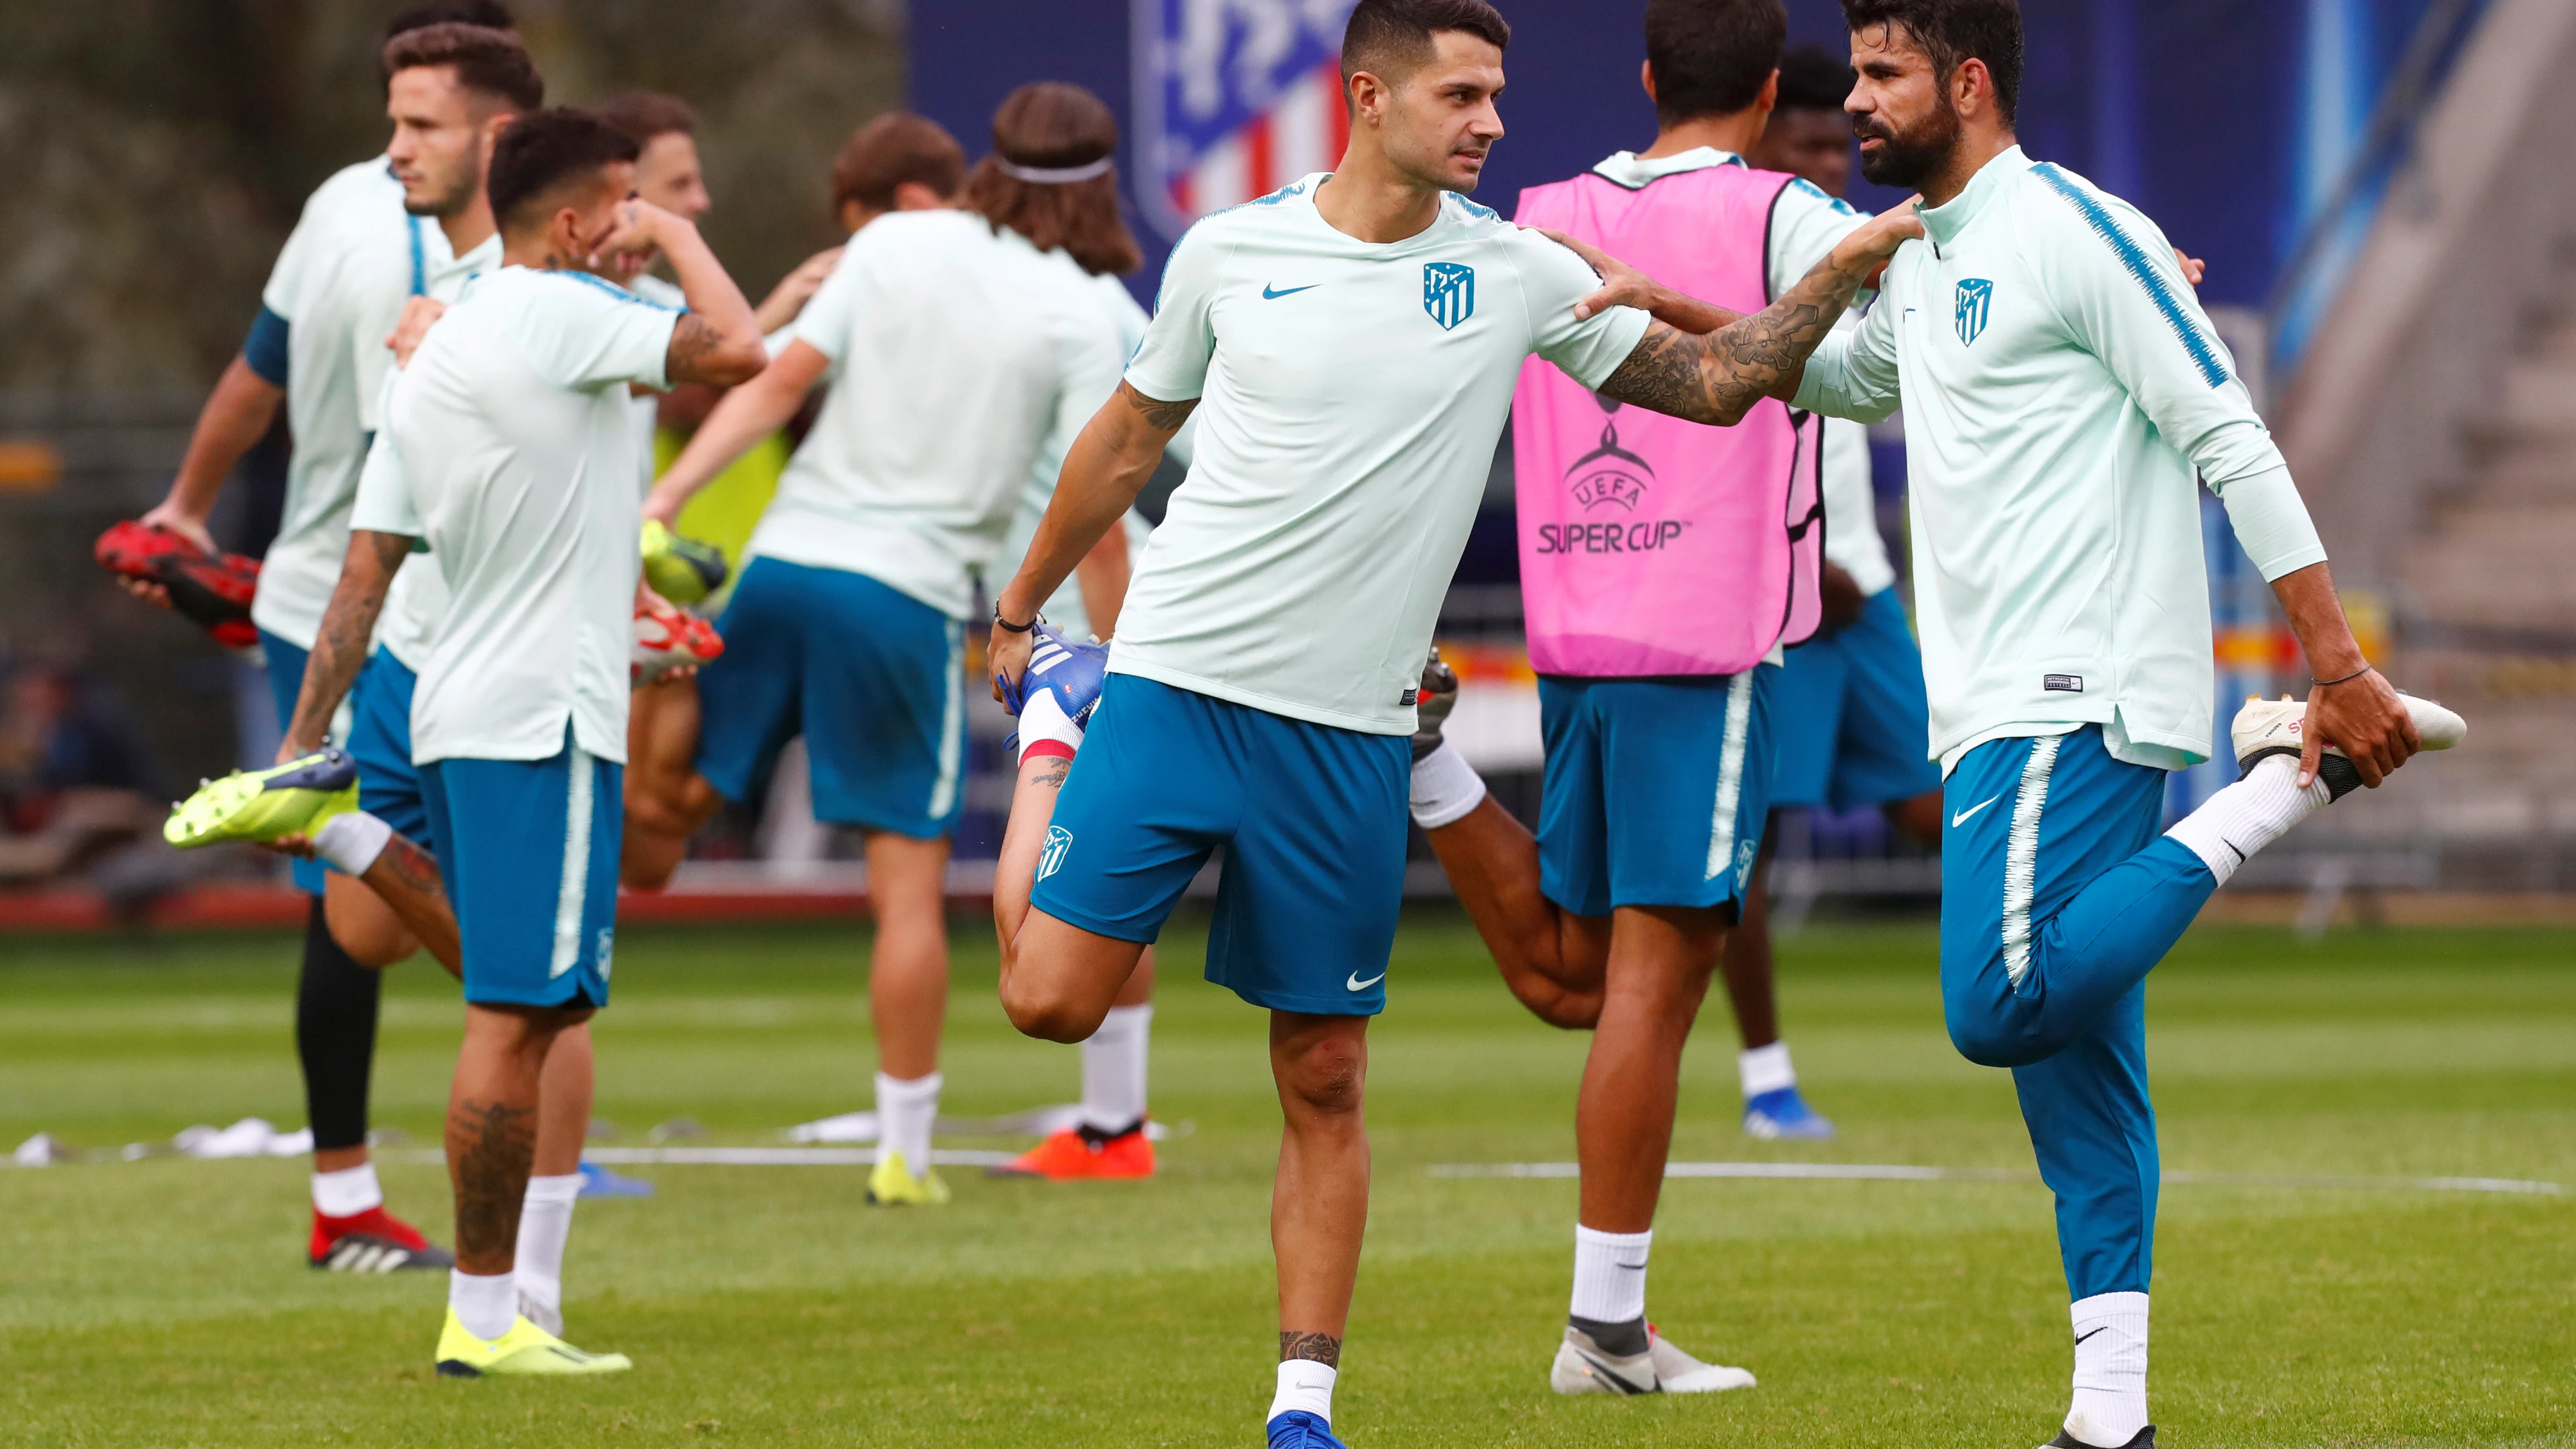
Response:
[{"label": "long brown hair held by a white headband", "polygon": [[1118,170],[1082,180],[1028,180],[1007,167],[1087,167],[1118,154],[1118,116],[1097,95],[1061,80],[1036,80],[992,113],[992,154],[966,178],[966,206],[994,229],[1010,226],[1041,252],[1064,247],[1092,275],[1144,265],[1136,234],[1118,214]]}]

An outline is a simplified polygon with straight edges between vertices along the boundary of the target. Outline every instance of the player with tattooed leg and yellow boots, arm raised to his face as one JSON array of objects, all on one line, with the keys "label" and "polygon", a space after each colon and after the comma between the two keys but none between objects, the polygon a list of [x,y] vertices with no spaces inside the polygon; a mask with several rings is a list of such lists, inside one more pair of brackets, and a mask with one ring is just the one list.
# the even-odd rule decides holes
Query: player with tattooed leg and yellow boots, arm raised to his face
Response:
[{"label": "player with tattooed leg and yellow boots, arm raised to his face", "polygon": [[[296,715],[309,734],[348,687],[384,602],[366,579],[394,579],[425,543],[451,602],[412,697],[412,757],[466,983],[443,1374],[629,1367],[533,1323],[513,1271],[538,1084],[556,1040],[608,1004],[639,571],[626,386],[732,386],[765,360],[696,229],[631,198],[634,154],[580,111],[502,134],[489,198],[505,265],[464,288],[386,394],[350,520],[374,569],[335,592]],[[688,311],[585,270],[641,247],[672,260]]]}]

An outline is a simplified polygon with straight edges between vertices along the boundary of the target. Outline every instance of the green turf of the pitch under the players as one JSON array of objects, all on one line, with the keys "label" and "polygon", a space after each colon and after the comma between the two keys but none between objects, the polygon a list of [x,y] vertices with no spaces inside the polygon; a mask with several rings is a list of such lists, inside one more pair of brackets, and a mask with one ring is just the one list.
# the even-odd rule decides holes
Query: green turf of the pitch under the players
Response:
[{"label": "green turf of the pitch under the players", "polygon": [[[961,921],[948,1112],[1059,1102]],[[1262,1019],[1175,932],[1151,1184],[951,1171],[938,1212],[860,1207],[860,1168],[636,1168],[590,1202],[572,1338],[613,1382],[438,1382],[443,1282],[301,1269],[301,1163],[0,1171],[5,1444],[1255,1444],[1270,1392]],[[768,1143],[866,1107],[853,929],[631,929],[600,1019],[600,1117]],[[2576,937],[2208,929],[2151,986],[2169,1168],[2576,1184]],[[1558,1400],[1571,1181],[1435,1179],[1566,1161],[1584,1040],[1538,1027],[1463,924],[1409,921],[1370,1035],[1376,1202],[1337,1418],[1355,1449],[1450,1444],[2030,1446],[2066,1395],[2066,1297],[2038,1184],[1677,1181],[1654,1315],[1762,1387]],[[294,942],[0,939],[0,1145],[301,1122]],[[1932,934],[1783,947],[1801,1071],[1844,1135],[1734,1127],[1731,1024],[1703,1024],[1677,1158],[2027,1168],[1999,1071],[1942,1037]],[[389,978],[376,1117],[435,1140],[459,1009]],[[974,1145],[974,1143],[958,1143]],[[989,1143],[987,1143],[989,1145]],[[394,1204],[446,1235],[435,1166]],[[2154,1410],[2192,1444],[2566,1444],[2576,1197],[2177,1184],[2164,1194]]]}]

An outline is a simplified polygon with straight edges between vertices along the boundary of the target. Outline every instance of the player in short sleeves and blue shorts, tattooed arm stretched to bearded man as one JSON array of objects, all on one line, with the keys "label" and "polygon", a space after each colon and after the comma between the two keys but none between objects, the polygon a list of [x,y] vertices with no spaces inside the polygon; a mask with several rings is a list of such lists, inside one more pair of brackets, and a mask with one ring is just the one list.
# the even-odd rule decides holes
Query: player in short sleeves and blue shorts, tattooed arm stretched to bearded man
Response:
[{"label": "player in short sleeves and blue shorts, tattooed arm stretched to bearded man", "polygon": [[[1909,216],[1873,221],[1775,306],[1710,335],[1600,306],[1574,252],[1458,196],[1502,136],[1507,41],[1481,0],[1352,10],[1340,170],[1182,237],[1144,347],[994,602],[997,690],[1028,741],[994,880],[1012,1022],[1087,1037],[1226,849],[1206,973],[1270,1009],[1285,1117],[1275,1446],[1337,1444],[1332,1385],[1368,1215],[1365,1027],[1386,1004],[1401,903],[1406,741],[1522,360],[1734,425],[1917,234]],[[1190,476],[1105,664],[1036,636],[1038,602],[1118,528],[1193,409]]]}]

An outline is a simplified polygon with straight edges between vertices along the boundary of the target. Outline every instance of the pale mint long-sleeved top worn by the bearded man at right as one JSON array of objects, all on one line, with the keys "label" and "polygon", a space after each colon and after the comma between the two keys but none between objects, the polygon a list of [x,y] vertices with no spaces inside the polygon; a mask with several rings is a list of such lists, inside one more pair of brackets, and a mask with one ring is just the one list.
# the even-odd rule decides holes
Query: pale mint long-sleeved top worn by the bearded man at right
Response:
[{"label": "pale mint long-sleeved top worn by the bearded man at right", "polygon": [[2117,759],[2208,759],[2192,474],[2264,579],[2326,558],[2236,360],[2154,221],[2020,147],[1922,219],[1795,404],[1906,412],[1929,754],[2097,723]]}]

